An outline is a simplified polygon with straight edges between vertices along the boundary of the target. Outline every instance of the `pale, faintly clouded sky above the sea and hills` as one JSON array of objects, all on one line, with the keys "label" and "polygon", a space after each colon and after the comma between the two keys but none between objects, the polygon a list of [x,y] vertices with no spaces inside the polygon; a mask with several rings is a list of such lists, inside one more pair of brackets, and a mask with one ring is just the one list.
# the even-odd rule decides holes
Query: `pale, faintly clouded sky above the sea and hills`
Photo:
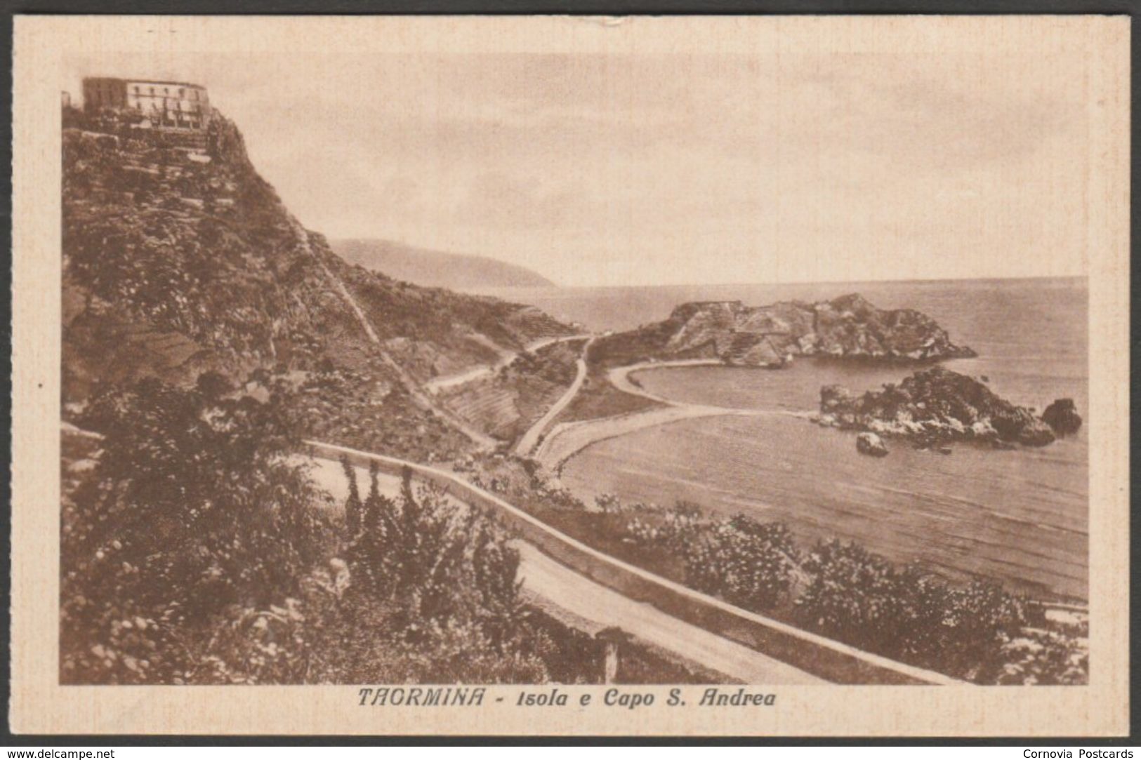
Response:
[{"label": "pale, faintly clouded sky above the sea and hills", "polygon": [[331,238],[563,285],[1086,273],[1079,50],[102,55],[66,75],[205,86]]}]

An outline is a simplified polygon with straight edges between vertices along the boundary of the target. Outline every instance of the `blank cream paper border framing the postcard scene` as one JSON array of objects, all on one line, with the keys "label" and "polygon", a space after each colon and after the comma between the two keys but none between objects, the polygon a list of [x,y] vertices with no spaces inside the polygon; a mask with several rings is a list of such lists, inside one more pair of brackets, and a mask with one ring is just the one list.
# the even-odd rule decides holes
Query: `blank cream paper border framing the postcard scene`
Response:
[{"label": "blank cream paper border framing the postcard scene", "polygon": [[[15,26],[13,703],[19,733],[1070,735],[1127,731],[1128,715],[1128,30],[1112,17],[210,18],[18,17]],[[1070,160],[1087,177],[1066,219],[1087,251],[1090,614],[1087,687],[775,687],[767,709],[359,708],[342,687],[60,687],[59,90],[67,55],[269,50],[1079,51],[1090,130]],[[1028,80],[1034,71],[1026,71]],[[1030,82],[1028,81],[1028,86]],[[1041,82],[1036,82],[1041,86]],[[584,159],[588,159],[584,156]],[[923,199],[899,215],[926,212]],[[987,250],[964,250],[971,276]],[[1051,251],[1038,252],[1050,273]],[[946,262],[945,262],[946,264]],[[550,270],[576,261],[547,262]],[[807,266],[794,256],[782,272]],[[946,267],[945,267],[946,270]],[[915,276],[901,269],[899,277]],[[952,275],[945,275],[952,276]],[[795,280],[796,277],[788,277]],[[573,280],[573,277],[567,277]],[[633,688],[633,687],[632,687]],[[664,695],[667,687],[638,687]],[[693,688],[693,687],[690,687]],[[532,689],[536,690],[536,689]],[[597,702],[597,698],[596,698]],[[664,702],[663,696],[658,703]]]}]

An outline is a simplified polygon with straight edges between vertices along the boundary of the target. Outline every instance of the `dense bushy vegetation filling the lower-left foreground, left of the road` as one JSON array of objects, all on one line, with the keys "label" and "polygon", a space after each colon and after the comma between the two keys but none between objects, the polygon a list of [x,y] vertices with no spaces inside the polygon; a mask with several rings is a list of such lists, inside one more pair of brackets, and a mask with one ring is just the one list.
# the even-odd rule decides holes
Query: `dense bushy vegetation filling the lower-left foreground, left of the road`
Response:
[{"label": "dense bushy vegetation filling the lower-left foreground, left of the road", "polygon": [[407,478],[331,519],[283,409],[213,374],[92,399],[102,438],[64,500],[62,679],[547,680],[559,647],[528,626],[502,531]]}]

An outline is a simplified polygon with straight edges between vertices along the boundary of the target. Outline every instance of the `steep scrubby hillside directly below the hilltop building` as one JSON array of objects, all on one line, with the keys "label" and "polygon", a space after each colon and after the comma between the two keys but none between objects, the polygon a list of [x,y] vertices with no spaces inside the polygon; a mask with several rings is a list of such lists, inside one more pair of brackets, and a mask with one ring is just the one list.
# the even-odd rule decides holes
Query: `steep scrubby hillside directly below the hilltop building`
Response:
[{"label": "steep scrubby hillside directly below the hilltop building", "polygon": [[65,113],[64,401],[274,371],[308,431],[426,455],[492,443],[423,393],[569,330],[533,307],[351,266],[288,212],[222,116],[201,144]]}]

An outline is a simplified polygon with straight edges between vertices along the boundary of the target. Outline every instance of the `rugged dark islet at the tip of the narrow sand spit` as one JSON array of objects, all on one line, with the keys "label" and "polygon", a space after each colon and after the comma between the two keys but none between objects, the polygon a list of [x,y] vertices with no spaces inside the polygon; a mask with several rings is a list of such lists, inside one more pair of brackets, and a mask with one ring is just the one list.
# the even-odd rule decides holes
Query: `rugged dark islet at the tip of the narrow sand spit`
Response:
[{"label": "rugged dark islet at the tip of the narrow sand spit", "polygon": [[974,378],[941,366],[861,396],[840,386],[820,389],[817,421],[879,435],[906,436],[920,446],[949,440],[1044,446],[1054,432],[1025,406],[1000,398]]}]

